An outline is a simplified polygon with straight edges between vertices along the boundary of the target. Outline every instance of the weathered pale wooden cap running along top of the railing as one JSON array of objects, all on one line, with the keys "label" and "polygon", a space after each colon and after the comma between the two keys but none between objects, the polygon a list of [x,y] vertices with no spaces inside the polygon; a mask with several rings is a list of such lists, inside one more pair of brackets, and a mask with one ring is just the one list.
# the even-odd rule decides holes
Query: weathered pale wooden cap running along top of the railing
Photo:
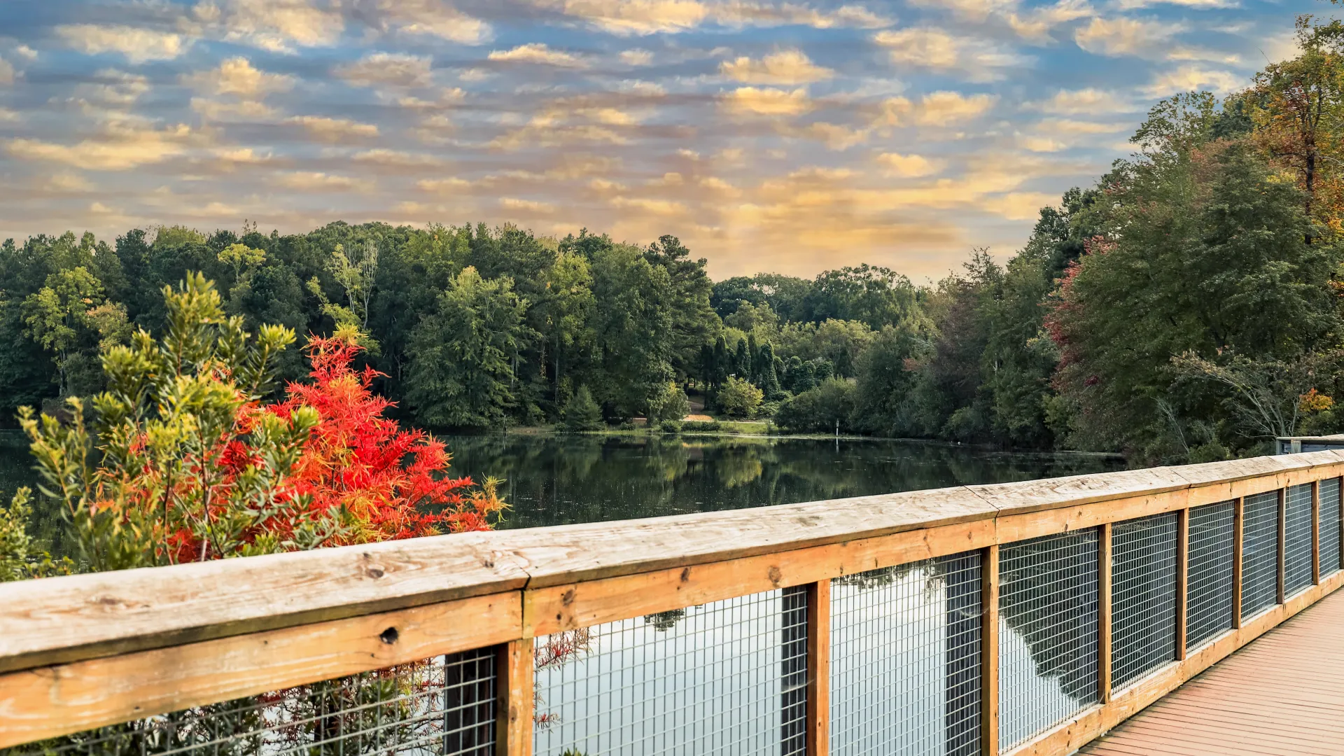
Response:
[{"label": "weathered pale wooden cap running along top of the railing", "polygon": [[1242,480],[1333,472],[1318,468],[1344,474],[1344,451],[9,582],[0,671],[1181,490],[1231,498]]}]

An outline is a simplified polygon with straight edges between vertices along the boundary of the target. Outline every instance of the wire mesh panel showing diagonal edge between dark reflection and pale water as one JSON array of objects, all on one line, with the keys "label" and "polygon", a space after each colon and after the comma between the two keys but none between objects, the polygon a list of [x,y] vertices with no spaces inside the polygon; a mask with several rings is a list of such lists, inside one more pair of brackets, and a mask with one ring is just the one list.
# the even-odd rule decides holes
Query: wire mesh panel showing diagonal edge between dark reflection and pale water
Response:
[{"label": "wire mesh panel showing diagonal edge between dark reflection and pale water", "polygon": [[1095,530],[999,552],[999,749],[1098,702]]}]

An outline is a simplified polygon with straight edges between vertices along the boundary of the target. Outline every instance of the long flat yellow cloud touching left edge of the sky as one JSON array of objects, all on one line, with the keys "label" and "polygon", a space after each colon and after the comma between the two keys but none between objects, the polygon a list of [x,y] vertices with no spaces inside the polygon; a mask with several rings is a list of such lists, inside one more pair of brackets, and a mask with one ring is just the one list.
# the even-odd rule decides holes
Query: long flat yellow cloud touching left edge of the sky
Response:
[{"label": "long flat yellow cloud touching left edge of the sky", "polygon": [[99,139],[75,144],[58,144],[34,139],[12,139],[9,155],[23,160],[50,160],[90,171],[122,171],[163,163],[187,151],[191,129],[177,125],[168,129],[141,129],[109,125]]}]

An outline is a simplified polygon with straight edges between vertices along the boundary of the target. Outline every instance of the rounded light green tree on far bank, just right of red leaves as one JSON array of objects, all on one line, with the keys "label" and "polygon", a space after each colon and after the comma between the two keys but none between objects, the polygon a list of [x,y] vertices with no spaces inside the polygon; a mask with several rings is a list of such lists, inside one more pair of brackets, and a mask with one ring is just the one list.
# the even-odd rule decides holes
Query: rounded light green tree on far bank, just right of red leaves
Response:
[{"label": "rounded light green tree on far bank, just right of red leaves", "polygon": [[406,398],[421,422],[496,428],[515,405],[513,362],[528,334],[511,278],[466,268],[411,332]]}]

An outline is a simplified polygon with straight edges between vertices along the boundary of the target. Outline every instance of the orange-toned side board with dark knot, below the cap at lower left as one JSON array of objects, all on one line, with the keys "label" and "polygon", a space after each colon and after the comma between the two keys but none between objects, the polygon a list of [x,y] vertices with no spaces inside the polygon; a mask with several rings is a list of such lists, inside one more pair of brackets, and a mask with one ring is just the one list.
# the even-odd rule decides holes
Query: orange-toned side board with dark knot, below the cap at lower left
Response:
[{"label": "orange-toned side board with dark knot, below the cap at lower left", "polygon": [[8,673],[0,748],[504,643],[520,628],[519,595],[505,593]]}]

